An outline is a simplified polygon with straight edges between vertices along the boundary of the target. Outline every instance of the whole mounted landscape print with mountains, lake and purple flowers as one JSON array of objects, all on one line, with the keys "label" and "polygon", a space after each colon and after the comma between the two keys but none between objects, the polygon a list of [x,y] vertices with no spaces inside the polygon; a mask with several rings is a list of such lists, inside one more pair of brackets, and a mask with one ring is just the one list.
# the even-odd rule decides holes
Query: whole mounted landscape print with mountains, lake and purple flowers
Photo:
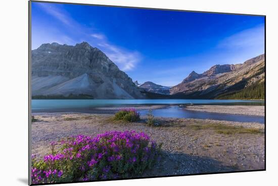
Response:
[{"label": "whole mounted landscape print with mountains, lake and purple flowers", "polygon": [[265,16],[29,2],[29,184],[255,170]]}]

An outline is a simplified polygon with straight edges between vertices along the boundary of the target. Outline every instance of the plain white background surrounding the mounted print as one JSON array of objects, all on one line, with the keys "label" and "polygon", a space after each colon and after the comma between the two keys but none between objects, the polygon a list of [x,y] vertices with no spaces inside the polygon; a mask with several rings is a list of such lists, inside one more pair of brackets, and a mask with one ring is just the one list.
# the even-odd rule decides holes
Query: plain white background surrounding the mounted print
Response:
[{"label": "plain white background surrounding the mounted print", "polygon": [[[61,2],[59,0],[56,0]],[[64,0],[66,2],[266,15],[266,171],[71,185],[273,185],[277,183],[277,5],[256,0]],[[27,185],[28,177],[28,2],[1,1],[0,184]],[[276,182],[276,183],[275,183]]]}]

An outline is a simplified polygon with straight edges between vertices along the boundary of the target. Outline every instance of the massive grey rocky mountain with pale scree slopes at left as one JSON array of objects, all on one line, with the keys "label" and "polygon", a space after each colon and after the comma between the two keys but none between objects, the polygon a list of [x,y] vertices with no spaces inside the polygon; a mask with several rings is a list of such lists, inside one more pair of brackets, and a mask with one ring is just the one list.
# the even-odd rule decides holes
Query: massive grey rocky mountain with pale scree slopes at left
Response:
[{"label": "massive grey rocky mountain with pale scree slopes at left", "polygon": [[105,53],[82,42],[42,44],[32,50],[32,98],[133,99],[144,95]]}]

